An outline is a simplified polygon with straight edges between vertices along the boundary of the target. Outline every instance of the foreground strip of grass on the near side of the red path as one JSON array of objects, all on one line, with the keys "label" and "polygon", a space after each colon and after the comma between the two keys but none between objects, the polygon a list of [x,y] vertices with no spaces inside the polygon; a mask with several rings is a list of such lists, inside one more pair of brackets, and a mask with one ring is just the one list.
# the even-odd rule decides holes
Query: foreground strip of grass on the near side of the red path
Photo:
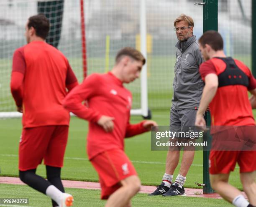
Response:
[{"label": "foreground strip of grass on the near side of the red path", "polygon": [[[66,188],[66,192],[74,195],[74,207],[102,207],[105,201],[100,200],[100,190]],[[23,185],[0,184],[0,197],[3,198],[28,198],[29,207],[49,207],[49,197],[36,192],[34,189]],[[182,202],[181,202],[182,200]],[[132,199],[133,207],[184,207],[189,204],[197,207],[228,207],[231,206],[222,199],[197,198],[197,197],[149,197],[147,194],[137,194]],[[1,205],[0,205],[1,206]],[[8,205],[6,205],[8,206]],[[22,207],[20,205],[19,207]]]}]

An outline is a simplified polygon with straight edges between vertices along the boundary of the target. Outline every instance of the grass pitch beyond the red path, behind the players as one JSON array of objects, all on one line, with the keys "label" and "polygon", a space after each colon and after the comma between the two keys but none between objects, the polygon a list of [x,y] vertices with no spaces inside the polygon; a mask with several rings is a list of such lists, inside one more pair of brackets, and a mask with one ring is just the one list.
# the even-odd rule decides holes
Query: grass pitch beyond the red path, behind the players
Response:
[{"label": "grass pitch beyond the red path, behind the players", "polygon": [[[153,119],[159,125],[169,124],[169,111],[153,111]],[[140,116],[132,116],[131,122],[141,121]],[[18,177],[18,144],[21,133],[20,119],[0,120],[0,167],[2,176]],[[88,161],[85,151],[87,121],[72,117],[69,129],[62,178],[81,181],[98,181],[97,173]],[[125,151],[133,162],[144,185],[158,185],[165,171],[166,151],[151,151],[150,132],[125,139]],[[182,154],[182,153],[181,153]],[[203,182],[202,151],[196,151],[192,167],[187,174],[185,187],[197,188],[195,182]],[[180,165],[174,173],[177,176]],[[39,165],[37,173],[45,176],[44,165]],[[231,173],[231,184],[241,189],[238,168]]]}]

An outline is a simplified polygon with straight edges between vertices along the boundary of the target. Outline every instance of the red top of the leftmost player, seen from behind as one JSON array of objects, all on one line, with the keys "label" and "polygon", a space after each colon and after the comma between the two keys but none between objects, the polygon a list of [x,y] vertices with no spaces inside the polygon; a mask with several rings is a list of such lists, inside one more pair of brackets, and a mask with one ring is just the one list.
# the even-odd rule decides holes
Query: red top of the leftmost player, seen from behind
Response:
[{"label": "red top of the leftmost player, seen from behind", "polygon": [[62,106],[67,94],[78,85],[67,58],[43,41],[33,41],[15,50],[11,92],[23,106],[23,128],[69,125],[69,112]]}]

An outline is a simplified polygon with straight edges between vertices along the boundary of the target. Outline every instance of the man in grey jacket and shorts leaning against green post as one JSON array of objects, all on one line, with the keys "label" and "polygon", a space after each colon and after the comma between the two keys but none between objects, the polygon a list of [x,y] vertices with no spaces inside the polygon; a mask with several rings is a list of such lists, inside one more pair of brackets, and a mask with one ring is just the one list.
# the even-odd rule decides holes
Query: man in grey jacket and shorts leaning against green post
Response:
[{"label": "man in grey jacket and shorts leaning against green post", "polygon": [[[174,27],[179,41],[175,45],[178,50],[174,67],[170,130],[186,131],[186,127],[194,126],[200,104],[204,84],[199,73],[199,66],[203,62],[203,58],[196,37],[193,35],[194,22],[192,18],[182,14],[174,21]],[[184,147],[179,174],[175,182],[172,182],[174,170],[179,163],[179,155],[179,150],[170,149],[168,151],[162,183],[148,195],[185,195],[183,185],[193,162],[195,151],[186,150],[186,146]]]}]

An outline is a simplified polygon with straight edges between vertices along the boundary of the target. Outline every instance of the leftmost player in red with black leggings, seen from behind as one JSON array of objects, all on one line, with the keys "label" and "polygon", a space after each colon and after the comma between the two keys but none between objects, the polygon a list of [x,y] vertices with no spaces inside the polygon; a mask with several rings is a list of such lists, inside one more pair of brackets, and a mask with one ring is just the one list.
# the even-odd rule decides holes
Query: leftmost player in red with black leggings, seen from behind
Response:
[{"label": "leftmost player in red with black leggings, seen from behind", "polygon": [[[53,206],[71,206],[73,197],[64,193],[61,167],[67,145],[69,112],[62,101],[78,85],[67,58],[45,42],[49,20],[35,15],[26,23],[28,44],[15,50],[11,92],[23,113],[19,146],[20,179],[48,195]],[[67,88],[67,89],[66,89]],[[36,175],[44,159],[47,180]]]}]

